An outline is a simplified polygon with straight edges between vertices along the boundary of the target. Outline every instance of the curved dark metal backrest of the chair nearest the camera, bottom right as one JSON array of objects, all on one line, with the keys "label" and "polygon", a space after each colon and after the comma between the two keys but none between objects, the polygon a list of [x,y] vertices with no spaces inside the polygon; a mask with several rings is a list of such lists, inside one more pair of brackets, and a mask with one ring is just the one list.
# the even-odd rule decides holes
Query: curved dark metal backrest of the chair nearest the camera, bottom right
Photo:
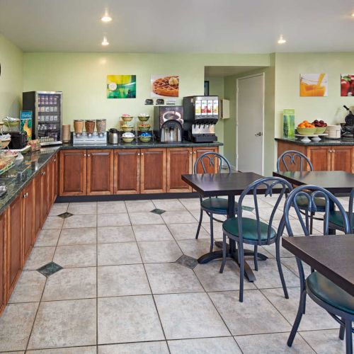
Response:
[{"label": "curved dark metal backrest of the chair nearest the camera, bottom right", "polygon": [[[307,210],[305,210],[304,215],[300,212],[299,205],[297,204],[300,200],[299,198],[307,198],[308,207]],[[325,200],[324,235],[329,234],[329,212],[333,209],[333,207],[337,207],[338,211],[341,212],[341,216],[343,217],[344,232],[349,234],[350,227],[348,215],[346,214],[346,210],[344,210],[343,205],[341,205],[341,202],[339,202],[339,200],[331,192],[317,185],[300,185],[292,190],[292,192],[287,196],[287,200],[284,205],[284,215],[279,225],[279,232],[282,232],[284,227],[286,227],[287,234],[289,236],[294,236],[290,222],[294,222],[295,220],[289,218],[289,210],[291,207],[294,207],[297,215],[296,219],[298,219],[304,235],[309,236],[309,212],[316,212],[315,198],[324,198]],[[324,239],[324,242],[326,242],[326,239]],[[304,290],[304,268],[302,267],[302,262],[299,258],[296,258],[296,261],[297,268],[299,268],[300,287],[301,290]]]}]

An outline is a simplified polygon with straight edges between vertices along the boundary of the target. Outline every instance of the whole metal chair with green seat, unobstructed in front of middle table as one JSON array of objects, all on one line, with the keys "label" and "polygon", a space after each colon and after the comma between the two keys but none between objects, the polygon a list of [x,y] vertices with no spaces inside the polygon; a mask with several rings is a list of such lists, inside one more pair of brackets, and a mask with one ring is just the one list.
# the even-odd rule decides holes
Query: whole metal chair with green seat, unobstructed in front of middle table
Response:
[{"label": "whole metal chair with green seat, unobstructed in front of middle table", "polygon": [[[260,193],[260,188],[263,188],[265,196],[272,195],[274,189],[278,189],[275,193],[279,193],[278,199],[275,202],[272,213],[270,215],[270,220],[267,223],[261,222],[258,210],[258,194]],[[265,188],[265,191],[264,191]],[[282,234],[277,233],[272,227],[273,218],[276,210],[278,209],[282,196],[289,190],[292,190],[292,185],[285,181],[285,179],[280,177],[266,177],[261,178],[258,181],[251,183],[240,195],[239,207],[237,210],[237,217],[232,217],[227,219],[222,224],[223,240],[222,240],[222,265],[220,268],[220,273],[224,271],[224,266],[226,263],[227,254],[227,237],[236,241],[238,246],[238,260],[240,267],[240,290],[239,290],[239,301],[244,300],[244,244],[251,244],[254,246],[254,268],[258,270],[257,261],[257,248],[258,246],[270,245],[275,243],[275,254],[278,264],[278,270],[280,274],[280,280],[282,282],[282,289],[284,290],[284,295],[288,299],[287,288],[285,285],[284,275],[282,274],[282,265],[280,263],[280,238]],[[258,193],[258,194],[257,194]],[[254,207],[256,212],[256,219],[250,219],[249,217],[242,217],[242,204],[244,198],[248,194],[253,194]]]}]

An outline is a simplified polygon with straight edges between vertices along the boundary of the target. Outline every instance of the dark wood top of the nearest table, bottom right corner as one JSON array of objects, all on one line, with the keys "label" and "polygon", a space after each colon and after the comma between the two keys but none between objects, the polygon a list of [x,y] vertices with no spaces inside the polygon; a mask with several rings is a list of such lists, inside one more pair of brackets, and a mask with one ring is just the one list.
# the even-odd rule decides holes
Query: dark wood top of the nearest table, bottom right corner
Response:
[{"label": "dark wood top of the nearest table, bottom right corner", "polygon": [[282,246],[354,296],[354,235],[282,237]]}]

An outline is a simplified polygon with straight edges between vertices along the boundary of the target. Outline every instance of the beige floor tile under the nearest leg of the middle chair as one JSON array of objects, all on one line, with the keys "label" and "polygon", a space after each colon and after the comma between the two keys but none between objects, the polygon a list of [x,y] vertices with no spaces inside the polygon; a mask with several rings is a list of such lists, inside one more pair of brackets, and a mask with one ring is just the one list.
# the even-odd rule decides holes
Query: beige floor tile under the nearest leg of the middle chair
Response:
[{"label": "beige floor tile under the nearest leg of the middle chair", "polygon": [[244,302],[239,302],[238,291],[210,292],[209,295],[234,336],[291,329],[260,290],[244,290]]}]

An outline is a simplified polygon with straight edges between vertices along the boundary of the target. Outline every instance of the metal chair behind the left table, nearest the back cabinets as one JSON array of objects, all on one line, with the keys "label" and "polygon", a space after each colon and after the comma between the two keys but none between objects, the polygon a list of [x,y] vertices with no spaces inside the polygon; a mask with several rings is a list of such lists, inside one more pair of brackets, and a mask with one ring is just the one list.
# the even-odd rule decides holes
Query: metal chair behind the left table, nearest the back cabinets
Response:
[{"label": "metal chair behind the left table, nearest the back cabinets", "polygon": [[[217,173],[221,173],[222,166],[224,164],[227,166],[227,172],[231,172],[231,166],[229,161],[224,158],[224,156],[218,154],[217,152],[205,152],[198,157],[197,161],[194,164],[194,173],[198,173],[198,166],[202,167],[202,173],[207,173],[207,167],[205,166],[205,161],[209,166],[212,166],[213,169],[216,167]],[[198,239],[200,227],[202,226],[202,215],[203,212],[206,212],[207,215],[210,217],[210,252],[212,252],[214,246],[214,231],[213,231],[213,221],[223,222],[224,220],[215,219],[213,217],[214,214],[216,215],[227,215],[227,198],[205,198],[203,199],[201,196],[200,198],[200,218],[199,224],[197,229],[197,234],[195,235],[195,239]],[[235,212],[237,211],[237,204],[235,203]]]}]

